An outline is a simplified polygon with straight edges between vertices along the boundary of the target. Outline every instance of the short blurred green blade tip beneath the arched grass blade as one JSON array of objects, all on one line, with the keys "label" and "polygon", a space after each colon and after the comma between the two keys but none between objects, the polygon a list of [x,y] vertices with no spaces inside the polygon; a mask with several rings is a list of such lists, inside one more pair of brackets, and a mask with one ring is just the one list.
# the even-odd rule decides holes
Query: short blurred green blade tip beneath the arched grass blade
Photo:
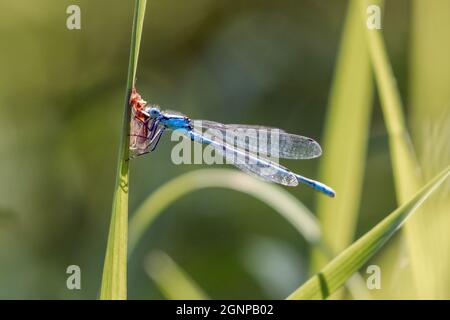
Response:
[{"label": "short blurred green blade tip beneath the arched grass blade", "polygon": [[145,270],[160,291],[170,300],[208,300],[197,283],[166,253],[152,252],[145,261]]}]

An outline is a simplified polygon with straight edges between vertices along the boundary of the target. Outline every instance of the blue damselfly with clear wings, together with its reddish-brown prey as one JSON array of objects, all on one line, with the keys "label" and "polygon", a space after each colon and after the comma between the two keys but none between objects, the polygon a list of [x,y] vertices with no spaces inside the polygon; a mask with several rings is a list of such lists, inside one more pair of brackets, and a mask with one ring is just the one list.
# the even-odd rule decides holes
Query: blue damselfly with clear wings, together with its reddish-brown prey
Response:
[{"label": "blue damselfly with clear wings, together with its reddish-brown prey", "polygon": [[[283,130],[239,124],[222,124],[207,120],[191,120],[187,116],[161,111],[156,105],[147,105],[141,96],[133,90],[130,104],[132,118],[130,125],[130,157],[155,150],[165,130],[176,130],[192,141],[211,146],[218,154],[227,159],[227,163],[265,181],[286,186],[296,186],[299,182],[334,197],[335,192],[327,185],[293,173],[268,156],[276,150],[276,158],[311,159],[322,154],[320,145],[311,138],[290,134]],[[207,130],[206,133],[202,129]],[[249,132],[262,132],[265,137],[270,133],[270,141],[261,145]],[[223,139],[229,135],[233,139]],[[227,136],[228,137],[228,136]],[[258,143],[259,142],[259,143]],[[276,148],[272,148],[275,146]],[[271,155],[273,157],[273,154]]]}]

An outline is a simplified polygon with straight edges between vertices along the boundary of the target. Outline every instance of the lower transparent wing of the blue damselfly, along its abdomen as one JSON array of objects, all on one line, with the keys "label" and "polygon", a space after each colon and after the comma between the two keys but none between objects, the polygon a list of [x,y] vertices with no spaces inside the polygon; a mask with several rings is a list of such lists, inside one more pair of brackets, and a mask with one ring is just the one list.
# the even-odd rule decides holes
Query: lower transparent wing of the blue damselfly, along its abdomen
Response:
[{"label": "lower transparent wing of the blue damselfly, along its abdomen", "polygon": [[227,164],[233,164],[251,176],[286,186],[298,185],[296,175],[278,163],[261,158],[227,143],[217,142],[196,130],[191,131],[191,135],[193,140],[213,147],[216,152],[225,158]]}]

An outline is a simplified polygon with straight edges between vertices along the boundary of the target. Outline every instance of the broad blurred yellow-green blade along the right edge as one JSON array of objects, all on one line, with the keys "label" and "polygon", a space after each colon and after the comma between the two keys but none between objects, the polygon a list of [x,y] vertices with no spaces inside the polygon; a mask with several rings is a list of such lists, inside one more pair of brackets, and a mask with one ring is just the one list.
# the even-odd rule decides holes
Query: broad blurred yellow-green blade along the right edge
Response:
[{"label": "broad blurred yellow-green blade along the right edge", "polygon": [[[409,123],[428,179],[450,163],[450,1],[411,3]],[[449,190],[447,183],[414,217],[419,226],[426,226],[416,230],[408,243],[414,248],[412,261],[420,298],[450,299]]]}]

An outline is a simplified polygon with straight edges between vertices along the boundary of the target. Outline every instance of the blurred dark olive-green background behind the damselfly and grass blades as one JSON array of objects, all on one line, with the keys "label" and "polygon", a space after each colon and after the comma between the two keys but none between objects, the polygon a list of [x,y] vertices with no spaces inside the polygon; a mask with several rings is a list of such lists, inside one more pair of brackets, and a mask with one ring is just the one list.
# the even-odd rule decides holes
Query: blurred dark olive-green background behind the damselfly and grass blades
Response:
[{"label": "blurred dark olive-green background behind the damselfly and grass blades", "polygon": [[[388,1],[383,19],[407,115],[413,3]],[[81,8],[81,30],[66,28],[70,4]],[[321,142],[346,9],[331,0],[149,0],[138,88],[191,118],[276,126]],[[132,14],[133,1],[0,2],[0,298],[98,296]],[[449,12],[439,19],[445,14],[450,21]],[[163,183],[204,167],[174,165],[172,146],[166,136],[132,162],[130,213]],[[286,165],[314,178],[319,161]],[[377,98],[362,188],[356,235],[397,207]],[[288,191],[314,212],[313,191]],[[153,250],[218,299],[284,298],[310,265],[309,246],[280,215],[222,189],[192,193],[157,219],[130,258],[129,298],[163,298],[143,267]],[[82,290],[66,288],[71,264],[81,267]]]}]

